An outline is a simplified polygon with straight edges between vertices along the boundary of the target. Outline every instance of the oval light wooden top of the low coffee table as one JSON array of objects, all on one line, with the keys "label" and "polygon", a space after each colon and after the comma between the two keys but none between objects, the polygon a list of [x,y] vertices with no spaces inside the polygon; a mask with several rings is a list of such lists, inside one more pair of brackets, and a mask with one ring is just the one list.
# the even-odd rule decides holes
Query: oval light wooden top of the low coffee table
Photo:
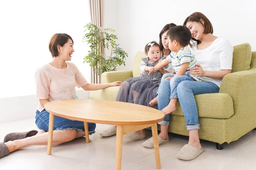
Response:
[{"label": "oval light wooden top of the low coffee table", "polygon": [[67,119],[111,125],[147,125],[160,122],[164,117],[161,111],[148,106],[111,100],[56,100],[44,107]]}]

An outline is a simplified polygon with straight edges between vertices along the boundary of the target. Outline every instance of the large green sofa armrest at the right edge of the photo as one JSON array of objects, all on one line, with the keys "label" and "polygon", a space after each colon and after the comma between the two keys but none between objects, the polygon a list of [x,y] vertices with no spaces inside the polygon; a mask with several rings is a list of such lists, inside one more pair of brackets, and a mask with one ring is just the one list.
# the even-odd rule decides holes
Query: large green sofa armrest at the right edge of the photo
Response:
[{"label": "large green sofa armrest at the right edge of the photo", "polygon": [[234,113],[255,112],[256,68],[227,74],[221,82],[220,93],[229,94],[233,99]]}]

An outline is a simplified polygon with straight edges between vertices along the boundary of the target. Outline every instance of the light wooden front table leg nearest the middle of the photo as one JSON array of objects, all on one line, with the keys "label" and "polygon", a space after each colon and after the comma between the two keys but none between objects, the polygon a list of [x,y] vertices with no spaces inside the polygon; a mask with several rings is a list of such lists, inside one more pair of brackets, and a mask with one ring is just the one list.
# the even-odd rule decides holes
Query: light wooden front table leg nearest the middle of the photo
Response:
[{"label": "light wooden front table leg nearest the middle of the photo", "polygon": [[116,125],[116,170],[121,170],[123,125]]}]

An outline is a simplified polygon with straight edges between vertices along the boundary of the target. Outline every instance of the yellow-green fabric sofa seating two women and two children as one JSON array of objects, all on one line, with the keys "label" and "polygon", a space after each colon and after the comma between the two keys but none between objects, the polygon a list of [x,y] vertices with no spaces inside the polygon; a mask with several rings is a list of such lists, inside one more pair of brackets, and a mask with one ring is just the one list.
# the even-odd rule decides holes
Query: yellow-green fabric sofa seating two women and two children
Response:
[{"label": "yellow-green fabric sofa seating two women and two children", "polygon": [[[124,81],[140,76],[140,62],[145,57],[138,52],[132,70],[111,71],[102,74],[102,83]],[[91,91],[90,99],[115,100],[119,87]],[[238,140],[256,127],[256,51],[248,43],[234,46],[232,73],[221,83],[219,93],[195,95],[201,129],[199,138],[223,143]],[[188,136],[183,112],[177,102],[177,111],[170,116],[169,132]]]}]

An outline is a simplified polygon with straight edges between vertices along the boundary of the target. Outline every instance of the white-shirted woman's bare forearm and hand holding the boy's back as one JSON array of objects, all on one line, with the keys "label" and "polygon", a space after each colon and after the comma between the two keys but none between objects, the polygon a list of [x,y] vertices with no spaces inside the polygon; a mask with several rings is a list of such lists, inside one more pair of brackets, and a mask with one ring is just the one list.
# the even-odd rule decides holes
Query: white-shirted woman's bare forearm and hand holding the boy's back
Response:
[{"label": "white-shirted woman's bare forearm and hand holding the boy's back", "polygon": [[221,71],[204,71],[200,64],[197,67],[190,68],[189,73],[193,76],[198,77],[209,77],[212,79],[223,79],[224,76],[231,73],[231,70],[221,70]]}]

